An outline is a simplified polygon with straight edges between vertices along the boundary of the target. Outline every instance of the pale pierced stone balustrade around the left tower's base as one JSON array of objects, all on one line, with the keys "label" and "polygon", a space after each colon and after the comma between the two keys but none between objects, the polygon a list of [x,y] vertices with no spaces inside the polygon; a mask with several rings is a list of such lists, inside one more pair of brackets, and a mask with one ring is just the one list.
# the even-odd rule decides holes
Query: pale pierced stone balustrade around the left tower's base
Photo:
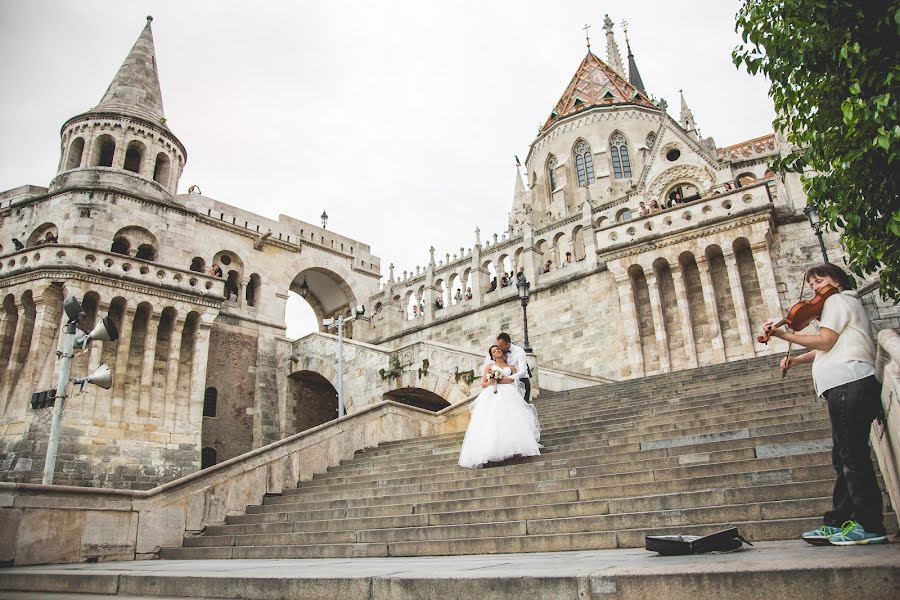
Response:
[{"label": "pale pierced stone balustrade around the left tower's base", "polygon": [[0,256],[0,279],[40,270],[76,271],[111,277],[193,296],[206,296],[216,301],[222,299],[225,291],[225,282],[218,277],[86,246],[45,244]]}]

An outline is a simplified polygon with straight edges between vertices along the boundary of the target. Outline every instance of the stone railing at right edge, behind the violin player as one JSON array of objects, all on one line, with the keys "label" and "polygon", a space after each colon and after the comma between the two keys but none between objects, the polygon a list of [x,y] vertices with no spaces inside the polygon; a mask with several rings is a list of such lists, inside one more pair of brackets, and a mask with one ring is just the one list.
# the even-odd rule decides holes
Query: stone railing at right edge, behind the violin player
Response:
[{"label": "stone railing at right edge, behind the violin player", "polygon": [[894,511],[900,507],[900,332],[883,329],[878,332],[878,355],[875,375],[881,381],[881,405],[884,424],[872,425],[872,447],[884,477]]}]

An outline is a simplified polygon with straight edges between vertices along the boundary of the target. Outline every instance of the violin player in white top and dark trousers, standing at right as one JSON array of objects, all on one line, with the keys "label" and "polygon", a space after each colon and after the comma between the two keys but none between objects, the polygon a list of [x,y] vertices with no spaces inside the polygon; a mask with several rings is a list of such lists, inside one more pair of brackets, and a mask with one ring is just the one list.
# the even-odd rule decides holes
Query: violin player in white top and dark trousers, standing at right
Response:
[{"label": "violin player in white top and dark trousers, standing at right", "polygon": [[851,289],[855,286],[850,277],[840,267],[824,263],[804,277],[817,295],[828,285],[839,292],[824,301],[818,333],[788,333],[771,321],[763,326],[766,336],[809,349],[799,356],[786,356],[781,368],[787,371],[812,363],[816,394],[825,398],[831,419],[831,456],[837,472],[832,509],[825,513],[821,527],[801,537],[813,545],[886,544],[881,490],[868,443],[872,421],[881,415],[872,324]]}]

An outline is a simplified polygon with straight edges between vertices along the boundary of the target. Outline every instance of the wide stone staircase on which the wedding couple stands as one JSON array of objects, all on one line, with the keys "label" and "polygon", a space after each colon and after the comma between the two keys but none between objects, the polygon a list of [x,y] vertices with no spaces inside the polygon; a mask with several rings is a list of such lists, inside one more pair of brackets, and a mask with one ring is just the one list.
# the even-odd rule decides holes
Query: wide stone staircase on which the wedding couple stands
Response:
[{"label": "wide stone staircase on which the wedding couple stands", "polygon": [[160,558],[637,548],[727,526],[796,538],[831,505],[831,432],[809,370],[782,380],[777,361],[544,394],[542,456],[500,466],[458,467],[462,433],[382,444]]}]

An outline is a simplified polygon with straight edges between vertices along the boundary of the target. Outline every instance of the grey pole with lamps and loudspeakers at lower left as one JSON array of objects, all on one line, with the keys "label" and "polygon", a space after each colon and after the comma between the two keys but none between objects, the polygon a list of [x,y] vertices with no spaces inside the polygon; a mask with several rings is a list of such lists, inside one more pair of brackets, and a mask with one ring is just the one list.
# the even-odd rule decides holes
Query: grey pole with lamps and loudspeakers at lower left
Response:
[{"label": "grey pole with lamps and loudspeakers at lower left", "polygon": [[[87,348],[87,345],[92,341],[114,342],[119,339],[119,330],[109,317],[100,319],[97,326],[88,334],[80,331],[76,325],[78,320],[84,316],[84,312],[82,312],[81,304],[78,303],[75,296],[70,296],[66,299],[63,303],[63,310],[68,321],[63,330],[65,335],[63,338],[63,350],[59,355],[59,379],[56,383],[56,390],[35,392],[31,397],[31,407],[33,409],[44,408],[50,403],[53,404],[50,440],[47,442],[47,458],[44,459],[44,485],[53,483],[53,474],[56,471],[56,455],[59,451],[59,432],[62,425],[63,403],[68,397],[66,392],[69,387],[69,371],[72,368],[72,358],[75,356],[76,339],[82,349]],[[80,384],[82,390],[85,384],[88,383],[109,389],[112,385],[112,372],[107,365],[100,365],[100,368],[91,375],[76,379],[74,382]]]}]

